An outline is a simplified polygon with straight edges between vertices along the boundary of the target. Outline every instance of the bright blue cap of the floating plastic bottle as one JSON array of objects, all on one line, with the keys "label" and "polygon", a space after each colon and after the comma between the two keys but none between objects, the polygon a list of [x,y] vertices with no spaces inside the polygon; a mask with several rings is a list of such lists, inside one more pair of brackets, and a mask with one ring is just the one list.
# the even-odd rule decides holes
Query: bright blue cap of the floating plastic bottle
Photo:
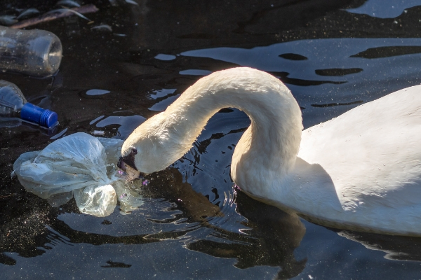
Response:
[{"label": "bright blue cap of the floating plastic bottle", "polygon": [[57,113],[48,109],[42,109],[31,103],[27,103],[22,107],[20,118],[48,128],[53,127],[58,120]]}]

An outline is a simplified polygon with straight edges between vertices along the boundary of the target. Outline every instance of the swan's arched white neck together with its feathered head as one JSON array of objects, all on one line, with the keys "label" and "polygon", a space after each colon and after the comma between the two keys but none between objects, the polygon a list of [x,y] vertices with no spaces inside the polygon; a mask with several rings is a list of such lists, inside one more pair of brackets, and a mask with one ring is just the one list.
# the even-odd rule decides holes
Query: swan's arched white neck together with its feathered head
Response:
[{"label": "swan's arched white neck together with its feathered head", "polygon": [[138,135],[127,139],[126,150],[133,145],[145,153],[146,147],[139,144],[153,144],[148,149],[159,157],[152,162],[148,156],[148,165],[139,162],[146,169],[139,170],[150,173],[166,168],[189,151],[209,118],[227,107],[244,111],[251,120],[233,155],[232,178],[236,184],[250,186],[258,183],[258,178],[286,174],[300,146],[300,107],[281,81],[254,69],[229,69],[201,78],[165,112],[138,127],[133,132]]}]

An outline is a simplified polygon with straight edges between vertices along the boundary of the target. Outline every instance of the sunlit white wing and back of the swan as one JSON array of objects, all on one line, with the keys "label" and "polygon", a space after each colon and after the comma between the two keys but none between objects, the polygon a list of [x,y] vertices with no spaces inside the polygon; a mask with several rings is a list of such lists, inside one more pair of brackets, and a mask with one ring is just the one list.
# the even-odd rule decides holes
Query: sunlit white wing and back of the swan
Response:
[{"label": "sunlit white wing and back of the swan", "polygon": [[303,131],[298,156],[326,170],[345,210],[421,209],[421,85]]}]

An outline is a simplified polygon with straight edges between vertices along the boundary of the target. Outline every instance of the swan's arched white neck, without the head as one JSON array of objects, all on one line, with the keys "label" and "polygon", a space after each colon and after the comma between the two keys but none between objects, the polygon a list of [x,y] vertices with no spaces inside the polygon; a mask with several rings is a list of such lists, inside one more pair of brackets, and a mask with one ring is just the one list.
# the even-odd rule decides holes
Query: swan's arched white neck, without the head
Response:
[{"label": "swan's arched white neck, without the head", "polygon": [[[265,169],[284,175],[293,167],[300,146],[300,107],[288,88],[274,76],[250,69],[236,70],[202,78],[166,113],[177,119],[174,124],[185,136],[182,141],[193,143],[208,119],[220,109],[234,107],[244,111],[251,125],[236,145],[232,167],[240,167],[241,172]],[[243,176],[236,173],[232,169],[234,181],[241,186]]]}]

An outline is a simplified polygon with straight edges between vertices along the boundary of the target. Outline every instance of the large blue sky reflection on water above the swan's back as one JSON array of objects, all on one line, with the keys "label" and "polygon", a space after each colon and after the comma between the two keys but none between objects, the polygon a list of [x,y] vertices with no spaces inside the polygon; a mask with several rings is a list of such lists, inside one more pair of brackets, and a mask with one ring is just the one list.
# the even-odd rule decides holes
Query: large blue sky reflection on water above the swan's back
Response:
[{"label": "large blue sky reflection on water above the swan's back", "polygon": [[[329,38],[251,49],[189,50],[181,55],[208,57],[273,73],[298,99],[304,109],[304,125],[311,127],[362,102],[419,84],[420,52],[418,38]],[[333,108],[337,105],[344,107]],[[311,107],[331,108],[321,114]]]}]

